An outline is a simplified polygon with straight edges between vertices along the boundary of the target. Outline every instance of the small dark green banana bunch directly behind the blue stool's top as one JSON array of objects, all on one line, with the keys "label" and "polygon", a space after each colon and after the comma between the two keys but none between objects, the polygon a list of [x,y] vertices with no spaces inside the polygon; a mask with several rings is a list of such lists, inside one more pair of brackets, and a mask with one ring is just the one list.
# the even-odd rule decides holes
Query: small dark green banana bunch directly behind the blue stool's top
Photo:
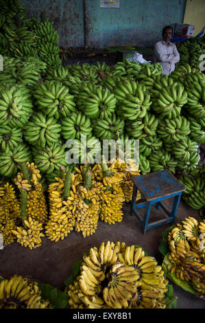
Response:
[{"label": "small dark green banana bunch directly behind the blue stool's top", "polygon": [[170,153],[165,151],[163,148],[158,151],[154,151],[147,157],[152,172],[158,170],[169,169],[170,172],[175,174],[177,161],[173,159]]}]

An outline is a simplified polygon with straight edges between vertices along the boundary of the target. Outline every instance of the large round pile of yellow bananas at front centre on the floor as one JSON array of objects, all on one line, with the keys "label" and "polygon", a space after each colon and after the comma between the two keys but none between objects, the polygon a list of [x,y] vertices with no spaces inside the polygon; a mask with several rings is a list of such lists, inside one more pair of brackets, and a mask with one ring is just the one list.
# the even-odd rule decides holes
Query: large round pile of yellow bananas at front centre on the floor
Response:
[{"label": "large round pile of yellow bananas at front centre on the floor", "polygon": [[141,247],[101,243],[83,257],[69,285],[72,309],[165,309],[168,281],[154,257]]}]

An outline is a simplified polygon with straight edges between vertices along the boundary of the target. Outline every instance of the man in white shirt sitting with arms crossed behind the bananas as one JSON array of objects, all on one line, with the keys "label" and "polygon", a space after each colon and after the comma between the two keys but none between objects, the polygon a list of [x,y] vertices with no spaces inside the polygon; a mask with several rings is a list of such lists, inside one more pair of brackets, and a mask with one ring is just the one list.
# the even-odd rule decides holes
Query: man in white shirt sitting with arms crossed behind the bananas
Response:
[{"label": "man in white shirt sitting with arms crossed behind the bananas", "polygon": [[173,28],[166,26],[162,30],[162,41],[154,45],[154,62],[162,65],[162,74],[169,75],[175,69],[176,63],[180,60],[180,54],[176,45],[170,42]]}]

